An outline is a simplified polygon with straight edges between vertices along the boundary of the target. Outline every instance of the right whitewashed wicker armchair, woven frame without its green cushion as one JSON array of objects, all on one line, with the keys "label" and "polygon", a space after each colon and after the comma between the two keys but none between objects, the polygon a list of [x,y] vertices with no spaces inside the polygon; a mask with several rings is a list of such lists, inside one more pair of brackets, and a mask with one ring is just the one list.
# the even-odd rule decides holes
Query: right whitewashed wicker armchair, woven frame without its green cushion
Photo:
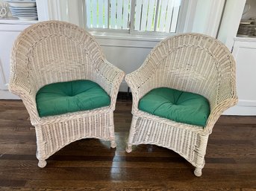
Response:
[{"label": "right whitewashed wicker armchair, woven frame without its green cushion", "polygon": [[[160,42],[137,71],[125,76],[133,96],[127,152],[132,145],[154,144],[172,149],[202,175],[208,136],[220,114],[237,103],[235,62],[228,48],[199,33],[185,33]],[[178,123],[138,109],[140,99],[154,88],[189,91],[207,98],[210,115],[205,126]]]}]

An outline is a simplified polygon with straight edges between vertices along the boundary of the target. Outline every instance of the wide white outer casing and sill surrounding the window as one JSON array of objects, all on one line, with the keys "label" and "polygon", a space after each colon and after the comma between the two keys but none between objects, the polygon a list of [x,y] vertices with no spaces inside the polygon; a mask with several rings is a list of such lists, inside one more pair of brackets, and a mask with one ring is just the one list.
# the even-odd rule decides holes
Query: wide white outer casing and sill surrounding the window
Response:
[{"label": "wide white outer casing and sill surrounding the window", "polygon": [[[72,22],[75,25],[86,28],[86,14],[83,9],[84,0],[37,0],[37,13],[39,21],[45,20],[61,20]],[[181,15],[178,19],[178,27],[176,33],[205,33],[216,37],[219,30],[219,21],[222,16],[222,10],[226,0],[183,0],[181,6]],[[232,0],[228,0],[232,1]],[[236,0],[238,1],[238,0]],[[241,0],[242,1],[242,0]],[[245,1],[245,0],[243,0]],[[66,10],[61,10],[61,4],[66,4]],[[200,6],[205,4],[205,7]],[[243,9],[243,7],[242,7]],[[202,22],[202,16],[204,16]],[[225,27],[226,28],[226,27]],[[160,40],[173,33],[124,33],[123,30],[90,30],[94,36],[108,39],[136,39],[136,40]]]}]

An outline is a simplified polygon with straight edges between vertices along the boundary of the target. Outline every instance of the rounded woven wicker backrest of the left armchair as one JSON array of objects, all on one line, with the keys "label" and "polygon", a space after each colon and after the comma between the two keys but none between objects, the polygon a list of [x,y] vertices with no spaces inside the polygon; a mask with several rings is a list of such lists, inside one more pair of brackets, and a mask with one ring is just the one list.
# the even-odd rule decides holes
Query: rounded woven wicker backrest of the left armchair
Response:
[{"label": "rounded woven wicker backrest of the left armchair", "polygon": [[36,89],[53,82],[94,80],[96,68],[104,63],[93,36],[65,22],[29,27],[18,37],[13,51],[16,75],[26,71],[28,83],[37,82]]}]

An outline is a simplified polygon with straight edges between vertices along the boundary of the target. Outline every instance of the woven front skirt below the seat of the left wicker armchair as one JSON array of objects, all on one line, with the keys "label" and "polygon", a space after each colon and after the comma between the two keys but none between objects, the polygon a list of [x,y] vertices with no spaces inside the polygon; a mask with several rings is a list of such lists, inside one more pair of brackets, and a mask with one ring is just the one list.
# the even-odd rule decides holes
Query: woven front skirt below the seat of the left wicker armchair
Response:
[{"label": "woven front skirt below the seat of the left wicker armchair", "polygon": [[39,124],[35,128],[38,160],[46,160],[75,140],[83,138],[115,140],[113,111],[42,126]]}]

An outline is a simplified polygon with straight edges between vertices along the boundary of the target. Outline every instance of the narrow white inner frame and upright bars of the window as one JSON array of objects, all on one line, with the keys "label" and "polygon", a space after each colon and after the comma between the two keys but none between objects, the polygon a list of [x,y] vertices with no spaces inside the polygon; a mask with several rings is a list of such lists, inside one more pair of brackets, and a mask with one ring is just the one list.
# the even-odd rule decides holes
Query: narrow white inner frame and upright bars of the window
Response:
[{"label": "narrow white inner frame and upright bars of the window", "polygon": [[[131,16],[134,16],[135,1],[136,0],[131,0]],[[178,21],[177,21],[175,33],[184,32],[184,29],[185,29],[184,27],[187,25],[187,23],[186,23],[187,15],[188,15],[188,13],[192,12],[192,10],[188,11],[187,8],[191,7],[190,4],[195,5],[196,1],[192,2],[191,0],[181,0],[181,7],[180,7],[179,13],[178,13]],[[157,1],[157,4],[159,4],[159,1]],[[172,36],[172,35],[175,34],[173,32],[166,33],[166,32],[158,32],[158,31],[137,31],[137,30],[134,30],[134,19],[131,19],[131,18],[130,18],[130,29],[128,29],[128,30],[125,30],[125,29],[111,29],[111,28],[89,28],[89,27],[87,27],[87,13],[86,13],[87,7],[86,7],[86,3],[85,3],[84,0],[82,0],[82,10],[83,10],[83,15],[84,15],[84,26],[83,27],[86,30],[89,30],[90,32],[93,32],[95,34],[100,35],[101,33],[110,33],[110,34],[114,35],[114,33],[121,33],[121,34],[125,33],[125,34],[128,34],[129,36],[163,36],[163,37]],[[156,15],[157,15],[157,12],[156,12]],[[155,19],[155,22],[157,22],[157,19]],[[156,30],[156,24],[154,25],[154,30]]]}]

